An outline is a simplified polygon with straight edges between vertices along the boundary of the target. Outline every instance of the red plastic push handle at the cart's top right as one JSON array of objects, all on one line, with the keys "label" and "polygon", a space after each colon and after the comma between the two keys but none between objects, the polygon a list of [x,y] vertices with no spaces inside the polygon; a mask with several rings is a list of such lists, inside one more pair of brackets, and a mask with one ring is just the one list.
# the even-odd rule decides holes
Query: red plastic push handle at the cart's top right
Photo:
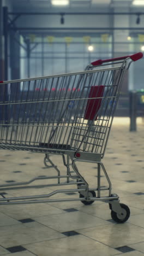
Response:
[{"label": "red plastic push handle at the cart's top right", "polygon": [[142,57],[143,57],[143,54],[142,54],[142,53],[137,53],[137,54],[134,54],[134,55],[124,56],[124,57],[118,57],[118,58],[115,58],[115,59],[97,60],[97,61],[91,62],[91,64],[92,64],[93,66],[98,66],[98,65],[103,64],[104,62],[121,61],[121,60],[125,60],[125,59],[127,59],[127,58],[130,58],[130,59],[133,60],[133,61],[137,61],[137,60],[140,60]]}]

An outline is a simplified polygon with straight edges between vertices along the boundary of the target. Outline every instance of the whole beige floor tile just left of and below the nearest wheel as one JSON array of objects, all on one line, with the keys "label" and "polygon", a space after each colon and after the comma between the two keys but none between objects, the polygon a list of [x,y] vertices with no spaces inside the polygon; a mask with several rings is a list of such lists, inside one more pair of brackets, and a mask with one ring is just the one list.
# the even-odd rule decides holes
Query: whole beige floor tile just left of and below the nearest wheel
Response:
[{"label": "whole beige floor tile just left of and below the nearest wheel", "polygon": [[105,220],[89,216],[83,212],[69,212],[59,214],[59,216],[57,214],[53,214],[52,216],[44,216],[34,219],[37,222],[49,226],[49,228],[55,229],[59,232],[107,224]]}]

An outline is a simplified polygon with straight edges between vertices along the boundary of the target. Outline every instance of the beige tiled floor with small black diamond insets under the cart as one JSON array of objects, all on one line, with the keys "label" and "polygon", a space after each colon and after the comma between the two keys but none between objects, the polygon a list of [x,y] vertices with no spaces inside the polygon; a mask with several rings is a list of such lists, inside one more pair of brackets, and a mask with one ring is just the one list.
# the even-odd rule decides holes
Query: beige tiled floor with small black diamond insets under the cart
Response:
[{"label": "beige tiled floor with small black diamond insets under the cart", "polygon": [[[111,219],[109,205],[97,201],[90,206],[80,201],[0,206],[0,255],[13,256],[141,256],[144,254],[144,129],[129,132],[129,120],[115,118],[103,163],[112,182],[112,192],[130,208],[124,224]],[[43,154],[1,150],[0,183],[29,181],[32,177],[55,174],[43,164]],[[52,156],[62,173],[61,157]],[[97,187],[97,165],[81,163],[79,168],[91,187]],[[107,185],[101,173],[101,185]],[[34,184],[51,184],[41,180]],[[0,191],[1,196],[47,194],[45,187]],[[7,194],[5,194],[7,193]],[[71,198],[57,194],[53,198]]]}]

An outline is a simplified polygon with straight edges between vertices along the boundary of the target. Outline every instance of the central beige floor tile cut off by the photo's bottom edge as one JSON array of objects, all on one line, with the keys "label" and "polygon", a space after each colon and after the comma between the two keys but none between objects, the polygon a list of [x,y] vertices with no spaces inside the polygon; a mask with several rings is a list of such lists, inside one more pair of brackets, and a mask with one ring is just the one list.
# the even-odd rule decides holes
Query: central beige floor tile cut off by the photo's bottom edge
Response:
[{"label": "central beige floor tile cut off by the photo's bottom edge", "polygon": [[112,256],[116,253],[119,254],[117,250],[81,235],[35,243],[25,247],[38,256],[47,256],[48,251],[49,255],[53,256]]}]

